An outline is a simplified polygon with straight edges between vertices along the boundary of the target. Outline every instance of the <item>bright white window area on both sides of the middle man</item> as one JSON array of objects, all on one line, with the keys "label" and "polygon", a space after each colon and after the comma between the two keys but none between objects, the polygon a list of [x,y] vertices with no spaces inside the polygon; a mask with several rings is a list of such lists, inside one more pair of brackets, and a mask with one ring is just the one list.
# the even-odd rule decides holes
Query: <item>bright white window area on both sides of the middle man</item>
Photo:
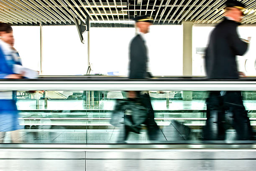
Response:
[{"label": "bright white window area on both sides of the middle man", "polygon": [[[128,75],[129,43],[134,36],[135,28],[91,28],[93,73]],[[153,75],[182,75],[181,25],[152,25],[144,38]]]}]

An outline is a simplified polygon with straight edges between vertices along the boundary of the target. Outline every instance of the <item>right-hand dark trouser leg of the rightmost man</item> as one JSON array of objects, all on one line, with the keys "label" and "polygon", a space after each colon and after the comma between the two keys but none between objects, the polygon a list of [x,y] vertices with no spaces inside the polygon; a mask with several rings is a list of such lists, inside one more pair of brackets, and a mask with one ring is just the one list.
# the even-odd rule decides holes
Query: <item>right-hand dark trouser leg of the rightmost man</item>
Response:
[{"label": "right-hand dark trouser leg of the rightmost man", "polygon": [[224,96],[224,106],[233,113],[233,127],[238,140],[252,140],[253,131],[247,111],[243,106],[241,91],[227,91]]}]

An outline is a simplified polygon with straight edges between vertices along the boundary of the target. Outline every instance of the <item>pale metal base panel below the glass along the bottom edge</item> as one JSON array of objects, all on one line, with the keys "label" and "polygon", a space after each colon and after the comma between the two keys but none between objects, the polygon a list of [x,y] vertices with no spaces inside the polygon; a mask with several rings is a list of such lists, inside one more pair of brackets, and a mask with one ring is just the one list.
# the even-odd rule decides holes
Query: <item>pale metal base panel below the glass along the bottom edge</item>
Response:
[{"label": "pale metal base panel below the glass along the bottom edge", "polygon": [[0,151],[1,171],[254,171],[256,155],[253,149],[218,150],[217,147],[158,151],[16,150]]}]

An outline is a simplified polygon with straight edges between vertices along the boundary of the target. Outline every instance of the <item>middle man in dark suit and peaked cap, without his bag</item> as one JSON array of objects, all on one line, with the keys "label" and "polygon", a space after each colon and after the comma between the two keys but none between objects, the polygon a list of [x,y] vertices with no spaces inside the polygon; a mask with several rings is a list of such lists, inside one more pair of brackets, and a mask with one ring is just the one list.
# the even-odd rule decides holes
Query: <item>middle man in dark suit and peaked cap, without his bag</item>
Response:
[{"label": "middle man in dark suit and peaked cap, without his bag", "polygon": [[[137,35],[131,40],[130,44],[130,79],[145,79],[150,78],[151,74],[148,72],[148,54],[145,44],[144,34],[149,32],[149,26],[152,25],[151,19],[146,15],[137,16],[134,18],[136,22],[136,28],[138,29]],[[148,139],[153,141],[158,139],[159,127],[154,120],[154,110],[151,105],[150,96],[148,93],[142,93],[140,91],[129,91],[128,98],[132,100],[139,100],[143,106],[148,108],[148,116],[143,124],[148,129]],[[130,116],[131,117],[131,116]],[[128,138],[128,134],[131,130],[127,126],[124,126],[123,141]],[[119,139],[119,141],[122,141]]]}]

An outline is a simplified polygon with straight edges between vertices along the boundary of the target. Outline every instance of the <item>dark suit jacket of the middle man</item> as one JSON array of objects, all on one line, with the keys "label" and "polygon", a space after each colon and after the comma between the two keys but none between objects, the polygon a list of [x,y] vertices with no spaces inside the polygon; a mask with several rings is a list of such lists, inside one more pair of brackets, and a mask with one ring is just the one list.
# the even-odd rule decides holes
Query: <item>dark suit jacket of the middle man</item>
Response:
[{"label": "dark suit jacket of the middle man", "polygon": [[150,77],[147,73],[147,48],[145,42],[140,34],[136,35],[130,44],[130,70],[129,78],[131,79],[143,79]]}]

